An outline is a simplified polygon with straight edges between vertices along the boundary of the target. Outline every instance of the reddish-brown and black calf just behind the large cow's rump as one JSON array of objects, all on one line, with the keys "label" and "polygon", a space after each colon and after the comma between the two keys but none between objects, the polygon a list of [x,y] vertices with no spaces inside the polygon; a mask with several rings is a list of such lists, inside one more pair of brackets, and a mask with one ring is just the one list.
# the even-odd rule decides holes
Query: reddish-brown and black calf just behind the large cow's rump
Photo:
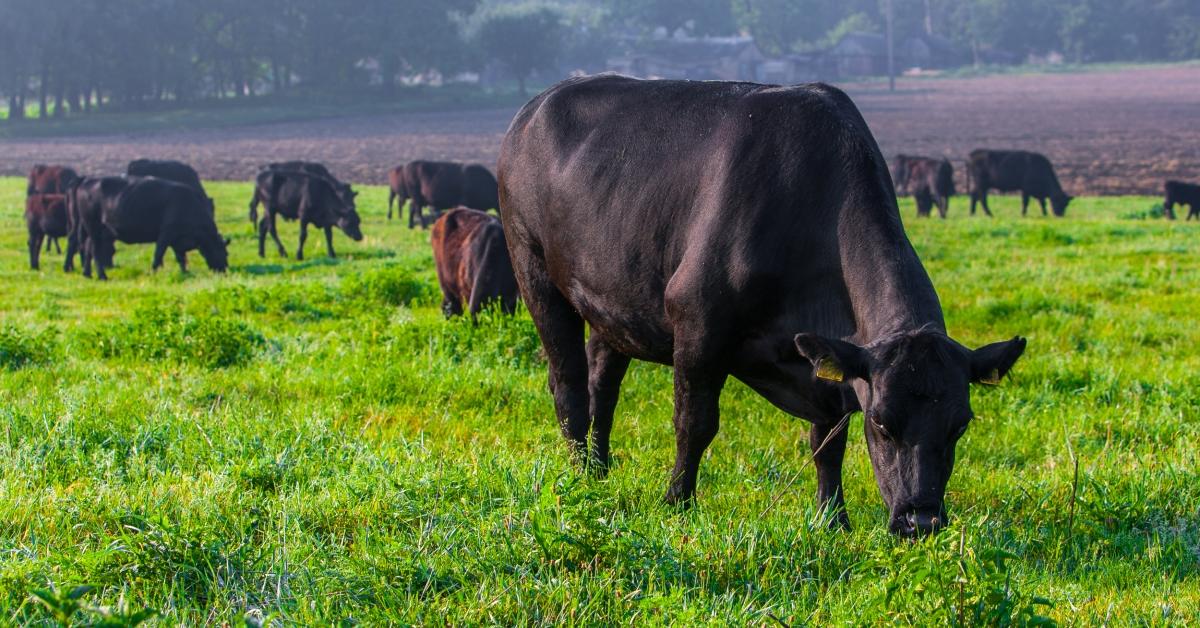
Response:
[{"label": "reddish-brown and black calf just behind the large cow's rump", "polygon": [[516,310],[517,280],[499,220],[474,209],[451,209],[433,223],[432,241],[446,317],[462,315],[464,301],[472,318],[488,301],[499,301],[504,313]]}]

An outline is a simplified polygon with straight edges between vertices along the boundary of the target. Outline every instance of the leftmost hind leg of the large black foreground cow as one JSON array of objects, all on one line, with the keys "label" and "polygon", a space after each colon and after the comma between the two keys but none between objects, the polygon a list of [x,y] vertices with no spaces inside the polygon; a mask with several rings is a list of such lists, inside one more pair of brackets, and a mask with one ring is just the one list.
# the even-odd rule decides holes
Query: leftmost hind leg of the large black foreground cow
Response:
[{"label": "leftmost hind leg of the large black foreground cow", "polygon": [[548,363],[550,393],[554,397],[558,425],[566,438],[571,457],[587,460],[588,429],[588,358],[583,346],[583,318],[550,280],[546,262],[528,251],[518,253],[524,263],[515,263],[517,279],[538,328]]}]

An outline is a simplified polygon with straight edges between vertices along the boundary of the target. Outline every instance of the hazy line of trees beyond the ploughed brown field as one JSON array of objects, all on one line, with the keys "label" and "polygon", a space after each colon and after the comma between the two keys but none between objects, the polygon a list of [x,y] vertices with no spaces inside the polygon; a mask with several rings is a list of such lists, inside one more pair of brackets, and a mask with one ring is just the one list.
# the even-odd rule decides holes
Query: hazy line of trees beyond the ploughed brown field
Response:
[{"label": "hazy line of trees beyond the ploughed brown field", "polygon": [[[622,46],[750,35],[768,54],[882,31],[888,0],[0,0],[10,118],[262,95],[391,94],[403,77],[499,64],[595,71]],[[900,37],[986,59],[1200,58],[1195,0],[892,0]],[[553,77],[557,78],[557,77]]]}]

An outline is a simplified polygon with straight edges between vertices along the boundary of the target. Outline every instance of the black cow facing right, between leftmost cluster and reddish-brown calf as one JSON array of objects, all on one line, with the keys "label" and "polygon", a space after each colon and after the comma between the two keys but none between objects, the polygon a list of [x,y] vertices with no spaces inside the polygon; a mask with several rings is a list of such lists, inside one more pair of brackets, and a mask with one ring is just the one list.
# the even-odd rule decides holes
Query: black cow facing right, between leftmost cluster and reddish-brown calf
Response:
[{"label": "black cow facing right, between leftmost cluster and reddish-brown calf", "polygon": [[362,240],[359,214],[354,205],[337,193],[332,181],[316,174],[287,171],[263,171],[254,185],[251,209],[262,203],[265,215],[258,223],[258,256],[265,257],[266,233],[275,239],[280,255],[288,256],[276,232],[276,217],[300,221],[300,245],[296,259],[304,259],[304,243],[308,238],[308,225],[325,229],[325,246],[329,257],[334,253],[334,227],[342,229],[354,241]]}]

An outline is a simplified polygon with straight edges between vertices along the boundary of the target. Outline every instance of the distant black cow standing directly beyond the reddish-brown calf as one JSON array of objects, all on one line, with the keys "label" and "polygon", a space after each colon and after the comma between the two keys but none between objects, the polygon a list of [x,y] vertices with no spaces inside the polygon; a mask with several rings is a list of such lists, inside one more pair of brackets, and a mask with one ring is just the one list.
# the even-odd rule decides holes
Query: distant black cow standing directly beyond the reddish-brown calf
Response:
[{"label": "distant black cow standing directly beyond the reddish-brown calf", "polygon": [[[424,210],[434,214],[456,207],[499,211],[496,177],[478,163],[452,163],[440,161],[414,161],[404,166],[404,186],[412,199],[408,228],[426,226]],[[390,205],[390,203],[389,203]]]}]

